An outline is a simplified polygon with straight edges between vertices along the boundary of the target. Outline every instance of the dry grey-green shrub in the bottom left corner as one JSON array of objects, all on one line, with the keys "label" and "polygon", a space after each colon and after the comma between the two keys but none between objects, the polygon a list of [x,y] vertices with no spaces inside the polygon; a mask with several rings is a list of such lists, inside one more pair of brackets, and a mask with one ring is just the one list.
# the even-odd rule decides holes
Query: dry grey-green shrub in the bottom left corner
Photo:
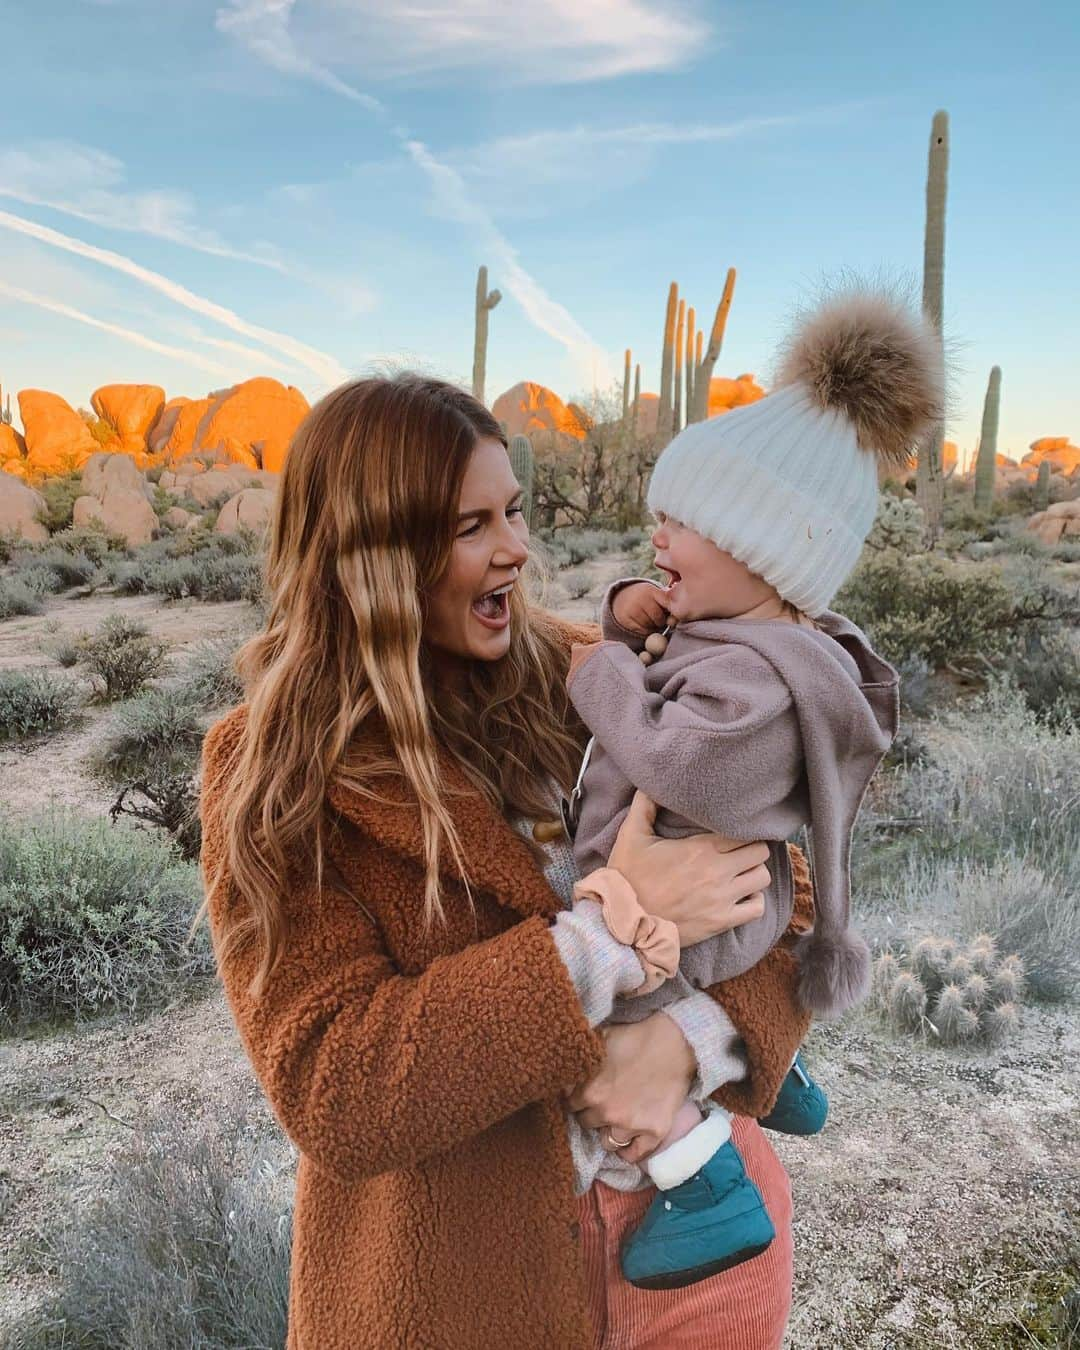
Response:
[{"label": "dry grey-green shrub in the bottom left corner", "polygon": [[58,1216],[39,1260],[58,1292],[19,1350],[281,1350],[294,1160],[239,1094],[196,1120],[153,1119]]}]

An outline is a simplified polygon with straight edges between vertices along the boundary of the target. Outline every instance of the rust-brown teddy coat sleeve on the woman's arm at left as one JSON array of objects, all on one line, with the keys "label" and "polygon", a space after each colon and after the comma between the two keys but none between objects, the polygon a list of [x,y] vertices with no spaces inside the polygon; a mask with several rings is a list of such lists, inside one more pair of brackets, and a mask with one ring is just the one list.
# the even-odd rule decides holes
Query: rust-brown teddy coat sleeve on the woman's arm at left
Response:
[{"label": "rust-brown teddy coat sleeve on the woman's arm at left", "polygon": [[[213,734],[200,798],[207,878],[223,856]],[[289,1138],[343,1181],[447,1152],[603,1061],[541,917],[405,976],[350,895],[290,875],[290,932],[255,998],[259,944],[221,954],[235,910],[225,875],[211,927],[244,1048]]]}]

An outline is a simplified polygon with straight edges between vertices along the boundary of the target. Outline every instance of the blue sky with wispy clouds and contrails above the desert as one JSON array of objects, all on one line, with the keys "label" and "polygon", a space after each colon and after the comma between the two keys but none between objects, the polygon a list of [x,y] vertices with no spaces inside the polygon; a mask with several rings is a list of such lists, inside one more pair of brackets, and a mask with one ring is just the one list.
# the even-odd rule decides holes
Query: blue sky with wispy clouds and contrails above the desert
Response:
[{"label": "blue sky with wispy clouds and contrails above the desert", "polygon": [[[418,367],[656,389],[667,288],[768,381],[841,273],[918,294],[950,117],[946,435],[1080,443],[1080,9],[1044,0],[0,0],[0,385],[313,401]],[[18,424],[18,410],[16,410]]]}]

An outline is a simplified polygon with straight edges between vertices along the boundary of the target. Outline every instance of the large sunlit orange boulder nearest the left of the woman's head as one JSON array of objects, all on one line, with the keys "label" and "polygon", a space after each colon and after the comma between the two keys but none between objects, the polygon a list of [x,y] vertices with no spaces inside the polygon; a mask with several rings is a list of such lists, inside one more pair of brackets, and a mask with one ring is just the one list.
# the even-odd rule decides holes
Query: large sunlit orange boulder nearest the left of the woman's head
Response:
[{"label": "large sunlit orange boulder nearest the left of the woman's head", "polygon": [[308,412],[308,400],[292,385],[266,377],[246,379],[212,400],[196,431],[196,450],[281,473],[293,432]]}]

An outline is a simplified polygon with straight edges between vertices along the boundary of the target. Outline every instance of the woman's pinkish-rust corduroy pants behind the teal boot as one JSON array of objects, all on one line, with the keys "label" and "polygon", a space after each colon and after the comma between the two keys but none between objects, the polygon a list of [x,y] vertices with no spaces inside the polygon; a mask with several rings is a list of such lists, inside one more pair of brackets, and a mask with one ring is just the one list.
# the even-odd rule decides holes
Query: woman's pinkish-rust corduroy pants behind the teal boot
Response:
[{"label": "woman's pinkish-rust corduroy pants behind the teal boot", "polygon": [[582,1256],[594,1350],[779,1350],[791,1308],[791,1185],[756,1120],[732,1122],[736,1148],[765,1199],[767,1251],[686,1289],[636,1289],[618,1249],[656,1193],[597,1181],[580,1197]]}]

